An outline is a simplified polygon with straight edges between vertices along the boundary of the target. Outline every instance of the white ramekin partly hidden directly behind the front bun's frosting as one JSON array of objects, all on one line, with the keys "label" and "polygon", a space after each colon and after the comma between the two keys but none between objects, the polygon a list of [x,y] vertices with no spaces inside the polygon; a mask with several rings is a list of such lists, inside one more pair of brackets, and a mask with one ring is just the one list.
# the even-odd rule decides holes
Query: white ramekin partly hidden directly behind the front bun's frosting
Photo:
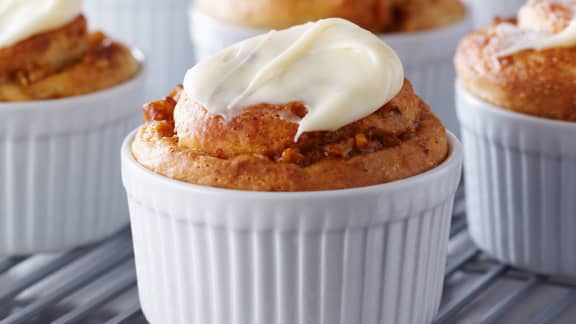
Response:
[{"label": "white ramekin partly hidden directly behind the front bun's frosting", "polygon": [[[219,21],[190,7],[190,33],[196,57],[202,59],[238,41],[256,36],[264,30],[250,29]],[[454,108],[453,57],[458,42],[473,27],[472,15],[460,23],[433,31],[382,34],[404,63],[406,76],[416,93],[442,119],[446,127],[458,134],[460,127]]]}]

